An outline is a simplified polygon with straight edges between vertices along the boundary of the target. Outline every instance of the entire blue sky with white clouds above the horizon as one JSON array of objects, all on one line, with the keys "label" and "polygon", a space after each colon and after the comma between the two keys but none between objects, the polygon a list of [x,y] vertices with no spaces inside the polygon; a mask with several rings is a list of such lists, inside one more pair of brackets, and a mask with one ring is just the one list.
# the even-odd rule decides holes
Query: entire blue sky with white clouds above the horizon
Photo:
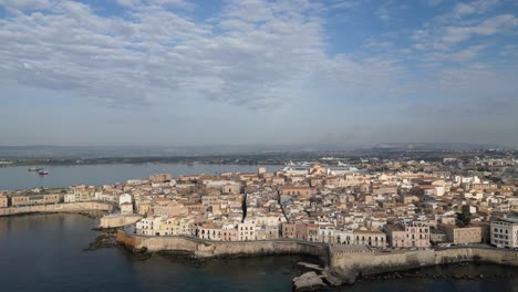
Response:
[{"label": "entire blue sky with white clouds above the horizon", "polygon": [[516,0],[0,0],[0,145],[518,146]]}]

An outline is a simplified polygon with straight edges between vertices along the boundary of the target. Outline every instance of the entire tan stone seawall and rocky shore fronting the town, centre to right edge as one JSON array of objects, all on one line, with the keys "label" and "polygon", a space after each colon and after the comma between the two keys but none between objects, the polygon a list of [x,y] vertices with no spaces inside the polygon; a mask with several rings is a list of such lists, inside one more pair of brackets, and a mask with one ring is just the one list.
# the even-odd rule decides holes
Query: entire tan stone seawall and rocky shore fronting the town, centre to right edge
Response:
[{"label": "entire tan stone seawall and rocky shore fronting the town, centre to right edge", "polygon": [[[429,267],[462,267],[468,263],[518,267],[518,251],[481,247],[397,251],[390,253],[377,251],[354,253],[333,252],[324,243],[315,244],[314,242],[293,240],[217,242],[186,237],[127,234],[124,230],[117,230],[117,242],[135,254],[157,253],[172,257],[180,255],[194,262],[218,258],[272,254],[318,257],[325,263],[325,269],[321,274],[314,273],[314,278],[321,278],[327,284],[333,286],[353,284],[358,280],[401,279],[412,271]],[[455,279],[463,278],[456,277]]]}]

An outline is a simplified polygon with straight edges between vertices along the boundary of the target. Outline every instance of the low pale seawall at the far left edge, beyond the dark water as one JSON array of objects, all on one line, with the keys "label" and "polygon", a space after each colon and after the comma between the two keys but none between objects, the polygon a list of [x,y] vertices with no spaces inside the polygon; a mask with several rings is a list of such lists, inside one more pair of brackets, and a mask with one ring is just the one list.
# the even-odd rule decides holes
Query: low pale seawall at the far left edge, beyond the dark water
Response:
[{"label": "low pale seawall at the far left edge, beyond the dark water", "polygon": [[15,216],[24,213],[40,212],[83,212],[83,211],[110,211],[112,206],[106,202],[84,201],[84,202],[66,202],[52,205],[34,205],[24,207],[0,208],[1,216]]}]

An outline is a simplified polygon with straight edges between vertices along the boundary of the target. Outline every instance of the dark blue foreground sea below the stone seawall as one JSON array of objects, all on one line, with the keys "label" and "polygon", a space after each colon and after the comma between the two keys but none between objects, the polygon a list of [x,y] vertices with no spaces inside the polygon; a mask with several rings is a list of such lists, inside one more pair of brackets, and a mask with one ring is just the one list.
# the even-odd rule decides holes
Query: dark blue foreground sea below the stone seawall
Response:
[{"label": "dark blue foreground sea below the stone seawall", "polygon": [[[99,219],[82,215],[0,218],[0,291],[291,291],[305,257],[256,257],[194,264],[154,255],[137,260],[122,248],[84,250]],[[516,268],[437,267],[422,273],[507,274],[475,280],[410,278],[361,281],[325,291],[518,291]],[[509,278],[511,275],[511,278]]]}]

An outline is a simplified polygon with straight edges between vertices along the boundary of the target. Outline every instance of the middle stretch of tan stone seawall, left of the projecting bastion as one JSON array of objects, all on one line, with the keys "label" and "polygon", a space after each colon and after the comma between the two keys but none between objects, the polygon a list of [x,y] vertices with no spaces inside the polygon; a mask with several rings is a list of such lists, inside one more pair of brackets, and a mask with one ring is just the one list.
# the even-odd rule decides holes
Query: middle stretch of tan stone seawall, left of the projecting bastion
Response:
[{"label": "middle stretch of tan stone seawall, left of the projecting bastion", "polygon": [[308,254],[327,261],[328,246],[294,240],[261,240],[247,242],[209,241],[187,237],[146,237],[117,231],[117,241],[130,249],[147,251],[188,251],[198,258],[260,254]]}]

